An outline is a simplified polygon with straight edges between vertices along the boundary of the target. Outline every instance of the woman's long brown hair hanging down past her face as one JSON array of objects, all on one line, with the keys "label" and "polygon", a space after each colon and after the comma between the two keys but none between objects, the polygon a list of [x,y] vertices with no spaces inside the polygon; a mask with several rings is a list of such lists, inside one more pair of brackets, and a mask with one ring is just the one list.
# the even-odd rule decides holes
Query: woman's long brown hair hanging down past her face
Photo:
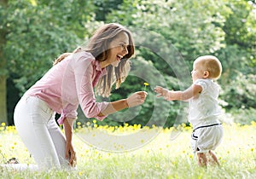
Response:
[{"label": "woman's long brown hair hanging down past her face", "polygon": [[[107,75],[102,76],[96,84],[96,94],[102,95],[103,97],[111,95],[113,84],[115,84],[115,89],[119,89],[120,84],[125,81],[125,78],[130,72],[131,67],[129,59],[134,55],[134,43],[131,32],[117,23],[106,24],[101,26],[94,33],[85,48],[79,47],[73,51],[73,53],[76,53],[80,50],[84,50],[90,52],[91,55],[96,58],[96,61],[107,61],[110,56],[110,43],[118,37],[120,32],[125,32],[129,37],[129,44],[127,45],[128,54],[122,58],[119,62],[119,66],[106,66]],[[60,55],[55,60],[54,65],[71,54],[72,53],[64,53]]]}]

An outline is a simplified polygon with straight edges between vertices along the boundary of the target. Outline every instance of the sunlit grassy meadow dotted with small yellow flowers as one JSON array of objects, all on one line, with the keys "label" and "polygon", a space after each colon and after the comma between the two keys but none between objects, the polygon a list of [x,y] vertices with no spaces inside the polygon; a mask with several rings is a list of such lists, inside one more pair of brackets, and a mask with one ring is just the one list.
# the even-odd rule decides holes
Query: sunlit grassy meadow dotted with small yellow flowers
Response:
[{"label": "sunlit grassy meadow dotted with small yellow flowers", "polygon": [[[80,127],[79,127],[80,128]],[[140,130],[139,126],[80,128],[74,134],[78,153],[77,170],[6,170],[0,168],[0,178],[256,178],[256,123],[241,126],[224,124],[224,141],[215,153],[220,167],[197,166],[190,149],[191,128],[179,130],[144,129],[150,134],[160,131],[150,142],[141,140],[136,150],[122,153],[106,152],[84,142],[84,134],[97,139],[102,131],[127,135]],[[173,133],[177,132],[177,133]],[[172,134],[178,134],[171,140]],[[26,147],[12,126],[0,126],[0,162],[16,157],[20,163],[34,164]],[[111,144],[111,141],[109,141]],[[122,146],[119,146],[122,148]]]}]

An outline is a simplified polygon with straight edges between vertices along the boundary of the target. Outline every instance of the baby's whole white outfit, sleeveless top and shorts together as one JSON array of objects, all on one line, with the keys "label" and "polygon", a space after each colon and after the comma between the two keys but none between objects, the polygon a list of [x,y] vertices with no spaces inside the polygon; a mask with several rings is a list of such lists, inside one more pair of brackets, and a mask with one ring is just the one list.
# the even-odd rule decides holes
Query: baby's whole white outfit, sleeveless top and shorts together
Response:
[{"label": "baby's whole white outfit, sleeveless top and shorts together", "polygon": [[202,90],[199,96],[189,100],[189,122],[193,126],[191,145],[195,153],[214,150],[222,141],[224,131],[218,120],[218,84],[212,79],[197,79]]}]

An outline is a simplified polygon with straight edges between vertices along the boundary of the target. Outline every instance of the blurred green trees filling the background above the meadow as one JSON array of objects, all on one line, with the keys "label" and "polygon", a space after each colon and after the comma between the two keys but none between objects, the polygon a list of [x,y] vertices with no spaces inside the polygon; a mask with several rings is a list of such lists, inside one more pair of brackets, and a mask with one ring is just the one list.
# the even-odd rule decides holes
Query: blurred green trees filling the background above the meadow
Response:
[{"label": "blurred green trees filling the background above the meadow", "polygon": [[[14,124],[14,108],[20,96],[49,70],[58,55],[72,52],[99,26],[110,22],[157,32],[172,43],[172,48],[164,49],[166,54],[172,54],[173,47],[177,49],[189,71],[198,56],[216,55],[224,70],[218,80],[224,118],[240,124],[256,121],[256,1],[1,0],[0,123]],[[139,40],[136,38],[135,43]],[[160,38],[143,40],[161,46]],[[159,55],[143,48],[137,48],[136,53],[137,61],[131,60],[133,70],[142,71],[136,69],[138,63],[152,66],[165,78],[166,88],[180,90],[176,73]],[[182,72],[183,66],[179,67]],[[110,100],[143,90],[144,82],[129,76],[119,90],[113,89]],[[150,97],[154,96],[153,88],[149,83],[148,99],[132,120],[109,116],[97,123],[148,124],[155,108],[154,97]],[[161,118],[168,114],[165,127],[177,123],[180,113],[186,121],[186,106],[177,101],[163,101],[163,105],[166,107],[157,115]],[[92,119],[79,115],[78,120]]]}]

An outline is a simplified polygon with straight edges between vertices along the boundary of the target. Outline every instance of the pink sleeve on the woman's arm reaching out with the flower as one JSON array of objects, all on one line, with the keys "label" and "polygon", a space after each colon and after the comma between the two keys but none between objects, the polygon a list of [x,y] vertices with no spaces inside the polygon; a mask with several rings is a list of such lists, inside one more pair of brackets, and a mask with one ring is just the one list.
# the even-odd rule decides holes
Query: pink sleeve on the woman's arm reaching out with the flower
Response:
[{"label": "pink sleeve on the woman's arm reaching out with the flower", "polygon": [[107,116],[98,116],[106,107],[108,102],[96,102],[93,90],[93,66],[90,59],[81,57],[74,66],[76,89],[78,92],[79,104],[87,118],[103,120]]}]

